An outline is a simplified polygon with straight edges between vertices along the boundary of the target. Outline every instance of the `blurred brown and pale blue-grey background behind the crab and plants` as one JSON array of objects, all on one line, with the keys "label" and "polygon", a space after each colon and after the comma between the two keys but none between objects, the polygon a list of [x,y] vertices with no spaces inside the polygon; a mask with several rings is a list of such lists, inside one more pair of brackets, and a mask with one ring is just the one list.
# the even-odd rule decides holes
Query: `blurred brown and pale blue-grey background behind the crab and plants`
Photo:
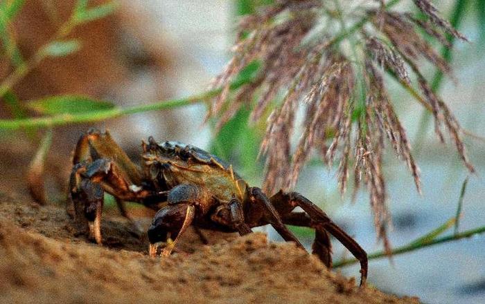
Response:
[{"label": "blurred brown and pale blue-grey background behind the crab and plants", "polygon": [[[113,14],[84,23],[69,35],[82,41],[78,52],[45,59],[15,85],[15,94],[22,102],[69,93],[131,106],[201,93],[231,57],[229,50],[238,15],[252,12],[256,4],[264,2],[267,1],[118,1]],[[414,10],[411,2],[403,1],[402,8]],[[450,17],[454,8],[464,3],[459,30],[470,43],[456,44],[452,66],[457,81],[445,79],[441,95],[464,129],[484,135],[485,8],[479,8],[485,6],[485,1],[435,2],[444,17]],[[89,6],[102,3],[89,1]],[[25,58],[54,35],[69,18],[74,4],[75,1],[26,1],[10,25],[10,33],[15,32],[13,38]],[[8,52],[3,50],[1,56],[3,79],[11,70],[8,60],[4,60]],[[398,86],[389,91],[412,140],[423,179],[423,196],[419,196],[405,164],[387,152],[384,169],[394,222],[390,239],[398,247],[455,216],[468,171],[454,146],[439,143],[432,121],[423,122],[423,108]],[[139,159],[141,139],[153,135],[159,141],[178,140],[212,151],[232,162],[249,184],[261,185],[263,162],[257,161],[256,155],[265,126],[247,126],[248,113],[241,111],[217,134],[212,122],[204,124],[205,104],[130,115],[95,125],[109,129],[134,160]],[[12,115],[8,101],[0,102],[0,118]],[[45,175],[49,200],[64,200],[59,181],[67,180],[71,149],[82,131],[92,125],[76,124],[53,131]],[[27,195],[25,174],[38,144],[37,135],[28,134],[0,131],[0,191],[19,197]],[[473,137],[465,137],[465,142],[477,174],[468,181],[461,230],[485,225],[485,143]],[[381,249],[368,194],[360,191],[355,202],[350,195],[342,198],[335,176],[334,169],[312,162],[301,174],[296,190],[320,205],[367,252]],[[279,240],[274,231],[267,231]],[[299,229],[297,233],[306,245],[311,245],[312,231]],[[337,241],[333,243],[335,260],[349,256]],[[371,260],[369,282],[386,292],[419,296],[424,303],[484,303],[484,248],[485,236],[479,236],[420,249],[392,260]],[[339,271],[355,276],[358,266]]]}]

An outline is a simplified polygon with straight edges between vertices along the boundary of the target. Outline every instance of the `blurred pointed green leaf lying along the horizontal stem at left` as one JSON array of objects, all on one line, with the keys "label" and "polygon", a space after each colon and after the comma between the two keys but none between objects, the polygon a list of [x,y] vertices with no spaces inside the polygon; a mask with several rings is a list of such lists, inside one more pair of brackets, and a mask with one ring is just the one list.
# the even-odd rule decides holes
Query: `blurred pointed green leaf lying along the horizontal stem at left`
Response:
[{"label": "blurred pointed green leaf lying along the horizontal stem at left", "polygon": [[78,114],[114,108],[110,102],[79,95],[60,95],[36,99],[27,108],[43,115]]}]

